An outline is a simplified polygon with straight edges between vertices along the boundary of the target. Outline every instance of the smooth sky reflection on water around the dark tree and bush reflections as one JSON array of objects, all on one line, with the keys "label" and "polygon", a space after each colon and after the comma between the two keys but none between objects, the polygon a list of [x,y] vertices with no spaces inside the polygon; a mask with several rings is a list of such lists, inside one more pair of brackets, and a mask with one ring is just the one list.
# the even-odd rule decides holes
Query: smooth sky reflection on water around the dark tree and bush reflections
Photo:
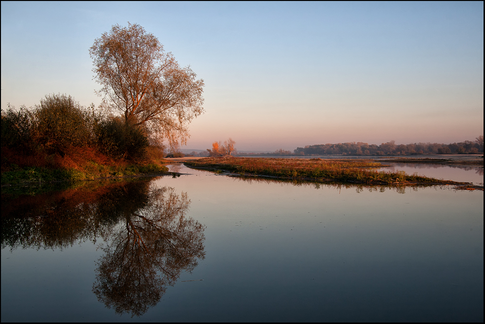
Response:
[{"label": "smooth sky reflection on water around the dark tree and bush reflections", "polygon": [[192,175],[156,184],[188,194],[187,217],[207,226],[206,255],[157,306],[130,319],[98,302],[95,244],[7,247],[2,321],[483,320],[481,191],[316,189],[180,171]]}]

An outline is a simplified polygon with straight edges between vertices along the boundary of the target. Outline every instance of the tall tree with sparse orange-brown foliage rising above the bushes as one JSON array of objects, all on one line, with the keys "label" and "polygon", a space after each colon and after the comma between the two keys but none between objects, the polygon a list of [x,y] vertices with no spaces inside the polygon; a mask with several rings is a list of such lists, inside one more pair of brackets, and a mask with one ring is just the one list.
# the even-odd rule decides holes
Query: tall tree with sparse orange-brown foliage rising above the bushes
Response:
[{"label": "tall tree with sparse orange-brown foliage rising above the bushes", "polygon": [[125,122],[162,135],[170,145],[187,142],[188,124],[204,112],[204,81],[190,66],[180,67],[157,37],[130,23],[103,33],[89,53],[105,103]]}]

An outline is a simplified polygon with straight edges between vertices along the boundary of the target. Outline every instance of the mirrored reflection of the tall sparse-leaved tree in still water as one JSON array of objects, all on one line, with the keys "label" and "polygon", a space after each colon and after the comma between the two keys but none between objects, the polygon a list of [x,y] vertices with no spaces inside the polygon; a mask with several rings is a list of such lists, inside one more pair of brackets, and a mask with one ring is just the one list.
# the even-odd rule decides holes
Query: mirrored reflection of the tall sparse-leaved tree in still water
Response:
[{"label": "mirrored reflection of the tall sparse-leaved tree in still water", "polygon": [[187,194],[164,187],[148,190],[142,208],[127,204],[120,211],[123,222],[106,235],[105,254],[97,262],[98,300],[116,313],[140,316],[182,270],[194,270],[205,255],[204,227],[185,217],[189,204]]}]

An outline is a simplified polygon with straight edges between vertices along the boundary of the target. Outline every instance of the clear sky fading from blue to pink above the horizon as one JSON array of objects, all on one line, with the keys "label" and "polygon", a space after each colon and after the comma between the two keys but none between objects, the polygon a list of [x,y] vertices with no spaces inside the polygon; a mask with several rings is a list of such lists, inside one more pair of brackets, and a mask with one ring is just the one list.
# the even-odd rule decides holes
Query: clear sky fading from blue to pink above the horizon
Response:
[{"label": "clear sky fading from blue to pink above the horizon", "polygon": [[1,108],[101,102],[89,48],[115,24],[203,79],[181,148],[240,151],[484,134],[484,3],[1,2]]}]

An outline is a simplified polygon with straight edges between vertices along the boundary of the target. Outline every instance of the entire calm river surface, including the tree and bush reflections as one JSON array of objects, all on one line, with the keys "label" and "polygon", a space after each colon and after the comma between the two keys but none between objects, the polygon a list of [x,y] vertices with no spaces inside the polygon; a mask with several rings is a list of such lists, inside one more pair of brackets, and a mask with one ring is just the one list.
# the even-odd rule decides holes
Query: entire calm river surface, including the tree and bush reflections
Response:
[{"label": "entire calm river surface, including the tree and bush reflections", "polygon": [[172,169],[2,194],[1,321],[484,320],[483,191]]}]

